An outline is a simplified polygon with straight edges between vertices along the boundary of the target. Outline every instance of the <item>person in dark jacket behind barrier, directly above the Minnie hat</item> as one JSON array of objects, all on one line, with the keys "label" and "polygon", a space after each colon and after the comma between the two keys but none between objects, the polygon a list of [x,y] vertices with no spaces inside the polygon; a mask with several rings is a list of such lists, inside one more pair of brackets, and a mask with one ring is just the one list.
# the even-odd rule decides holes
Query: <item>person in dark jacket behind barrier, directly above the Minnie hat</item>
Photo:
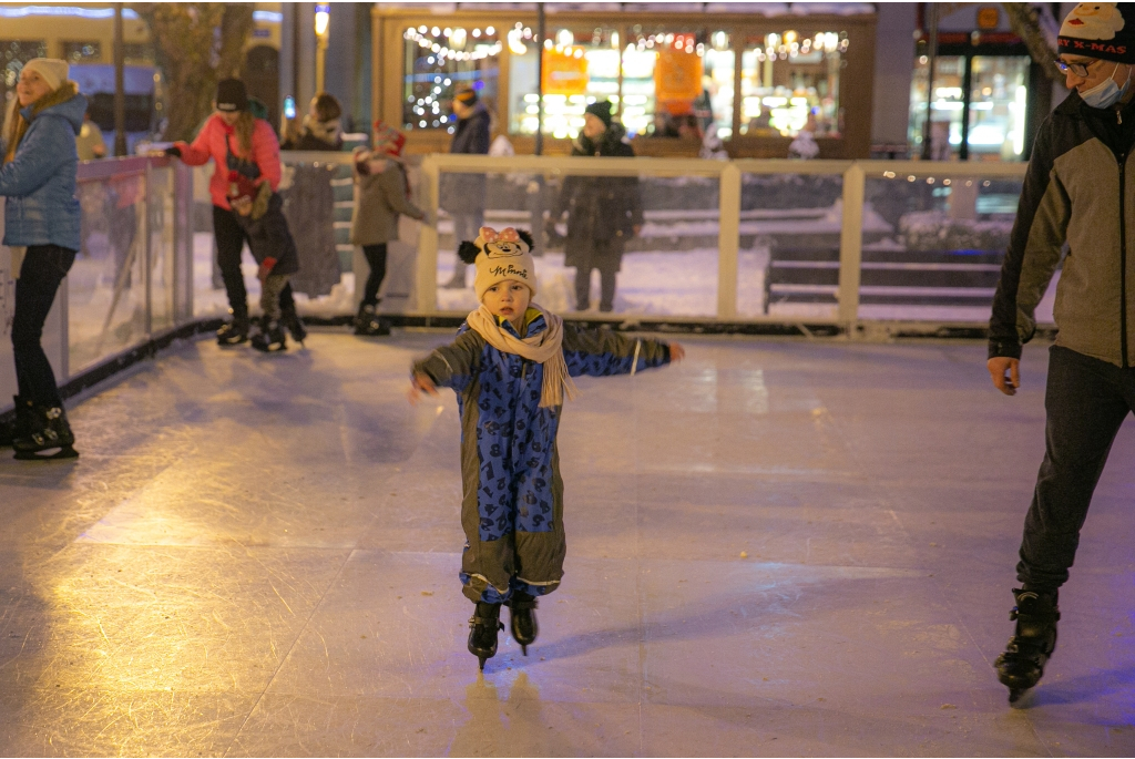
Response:
[{"label": "person in dark jacket behind barrier, directly above the Minnie hat", "polygon": [[[451,153],[487,155],[493,130],[493,117],[476,90],[461,90],[453,96],[453,113],[457,127],[449,143]],[[463,239],[474,239],[485,224],[485,175],[446,174],[442,179],[439,205],[453,218],[454,247]],[[453,277],[445,287],[465,286],[466,265],[454,254]]]}]

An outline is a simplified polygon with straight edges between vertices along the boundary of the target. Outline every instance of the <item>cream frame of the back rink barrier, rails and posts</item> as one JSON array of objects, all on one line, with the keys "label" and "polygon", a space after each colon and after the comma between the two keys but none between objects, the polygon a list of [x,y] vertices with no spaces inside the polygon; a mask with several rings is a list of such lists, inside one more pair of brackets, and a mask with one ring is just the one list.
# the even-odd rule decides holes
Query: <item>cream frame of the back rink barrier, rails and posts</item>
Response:
[{"label": "cream frame of the back rink barrier, rails and posts", "polygon": [[[673,322],[721,322],[753,324],[796,324],[806,322],[815,326],[831,326],[842,330],[863,331],[863,323],[880,321],[864,319],[860,313],[860,272],[863,268],[865,188],[868,179],[893,179],[911,183],[928,182],[931,185],[955,179],[990,178],[1023,179],[1025,163],[985,162],[934,162],[934,161],[799,161],[799,160],[733,160],[715,161],[700,159],[658,158],[571,158],[516,155],[493,158],[487,155],[430,154],[420,167],[420,202],[434,218],[439,210],[439,186],[443,174],[529,174],[545,179],[566,176],[637,176],[637,177],[707,177],[718,183],[717,227],[717,302],[713,317],[666,318]],[[754,315],[738,309],[738,254],[741,238],[742,178],[757,176],[839,177],[842,182],[841,224],[839,235],[839,284],[835,288],[838,303],[834,317],[812,317],[806,319],[777,315]],[[986,183],[987,184],[987,183]],[[943,186],[942,184],[938,185]],[[649,212],[648,212],[649,213]],[[418,241],[417,282],[414,315],[462,315],[459,311],[443,311],[437,306],[437,227],[423,227]],[[767,306],[766,306],[767,309]],[[656,315],[620,311],[617,317],[634,320]],[[573,315],[573,318],[575,318]],[[587,314],[579,314],[587,319]],[[599,318],[609,318],[603,315]],[[901,328],[901,321],[888,320]],[[939,322],[934,327],[982,327],[981,320]]]}]

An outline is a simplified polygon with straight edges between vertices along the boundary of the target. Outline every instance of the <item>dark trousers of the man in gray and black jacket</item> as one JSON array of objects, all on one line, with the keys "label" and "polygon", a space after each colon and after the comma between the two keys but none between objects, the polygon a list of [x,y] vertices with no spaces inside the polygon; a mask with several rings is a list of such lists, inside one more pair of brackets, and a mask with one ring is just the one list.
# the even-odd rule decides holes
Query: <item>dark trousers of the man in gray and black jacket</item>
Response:
[{"label": "dark trousers of the man in gray and black jacket", "polygon": [[1133,408],[1135,369],[1049,349],[1044,462],[1017,564],[1017,579],[1031,590],[1056,590],[1068,581],[1092,494]]}]

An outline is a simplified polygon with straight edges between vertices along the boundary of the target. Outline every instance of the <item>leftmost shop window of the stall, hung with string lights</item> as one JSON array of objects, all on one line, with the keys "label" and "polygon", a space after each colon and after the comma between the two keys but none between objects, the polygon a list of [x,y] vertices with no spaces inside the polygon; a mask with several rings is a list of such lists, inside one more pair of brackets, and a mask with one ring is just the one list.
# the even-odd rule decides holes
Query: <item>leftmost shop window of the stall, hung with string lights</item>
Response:
[{"label": "leftmost shop window of the stall, hung with string lights", "polygon": [[449,101],[472,87],[495,101],[503,43],[493,26],[417,26],[403,32],[402,126],[453,132]]}]

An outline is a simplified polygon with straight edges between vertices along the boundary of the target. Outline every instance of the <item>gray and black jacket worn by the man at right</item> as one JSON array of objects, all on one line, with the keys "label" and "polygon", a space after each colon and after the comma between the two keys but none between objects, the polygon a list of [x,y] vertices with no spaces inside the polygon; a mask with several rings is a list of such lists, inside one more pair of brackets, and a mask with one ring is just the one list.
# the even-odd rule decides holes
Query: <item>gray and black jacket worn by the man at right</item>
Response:
[{"label": "gray and black jacket worn by the man at right", "polygon": [[1068,244],[1053,311],[1057,345],[1129,366],[1135,357],[1135,104],[1087,107],[1073,92],[1042,124],[1001,267],[990,357],[1020,357]]}]

